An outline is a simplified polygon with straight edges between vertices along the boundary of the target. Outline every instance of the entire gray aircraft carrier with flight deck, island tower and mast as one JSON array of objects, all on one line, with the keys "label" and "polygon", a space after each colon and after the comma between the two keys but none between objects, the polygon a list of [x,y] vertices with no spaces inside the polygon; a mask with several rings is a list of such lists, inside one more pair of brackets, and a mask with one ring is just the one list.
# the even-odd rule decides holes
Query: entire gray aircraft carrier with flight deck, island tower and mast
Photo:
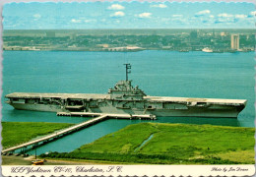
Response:
[{"label": "entire gray aircraft carrier with flight deck, island tower and mast", "polygon": [[129,114],[152,116],[188,116],[236,118],[246,99],[190,98],[150,96],[128,80],[131,65],[126,66],[126,80],[119,81],[108,93],[33,93],[13,92],[6,101],[16,109],[62,112],[72,115]]}]

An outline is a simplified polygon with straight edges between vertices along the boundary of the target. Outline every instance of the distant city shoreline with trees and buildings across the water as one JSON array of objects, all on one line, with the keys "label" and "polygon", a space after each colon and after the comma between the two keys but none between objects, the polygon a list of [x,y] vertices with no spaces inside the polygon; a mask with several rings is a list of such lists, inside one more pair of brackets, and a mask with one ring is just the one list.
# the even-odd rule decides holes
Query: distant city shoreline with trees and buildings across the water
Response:
[{"label": "distant city shoreline with trees and buildings across the water", "polygon": [[254,29],[17,29],[4,30],[3,50],[205,51],[255,50]]}]

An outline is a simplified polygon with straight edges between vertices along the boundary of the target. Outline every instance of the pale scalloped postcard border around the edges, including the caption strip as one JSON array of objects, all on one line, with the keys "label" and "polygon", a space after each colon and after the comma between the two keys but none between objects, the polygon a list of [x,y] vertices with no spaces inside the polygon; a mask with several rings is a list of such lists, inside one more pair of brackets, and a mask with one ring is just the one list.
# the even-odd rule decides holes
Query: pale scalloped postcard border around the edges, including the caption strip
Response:
[{"label": "pale scalloped postcard border around the edges, including the caption strip", "polygon": [[[105,0],[0,0],[1,21],[3,5],[12,2],[96,2]],[[131,0],[107,0],[108,2],[131,2]],[[247,2],[256,6],[255,0],[138,0],[139,2]],[[255,8],[256,9],[256,8]],[[0,45],[3,26],[0,23]],[[0,61],[3,61],[2,47]],[[2,79],[3,66],[0,66]],[[0,82],[2,87],[2,82]],[[2,90],[1,90],[2,94]],[[2,118],[1,109],[0,117]],[[256,121],[255,121],[256,123]],[[0,126],[2,130],[2,127]],[[1,137],[2,140],[2,137]],[[2,147],[1,147],[2,149]],[[2,159],[0,159],[2,162]],[[3,176],[254,176],[255,165],[1,165]],[[98,170],[96,170],[98,169]],[[103,172],[101,172],[101,170]],[[40,172],[40,170],[45,172]],[[109,171],[110,170],[110,171]],[[49,171],[49,172],[47,172]],[[109,172],[107,172],[109,171]],[[0,176],[2,176],[0,174]]]}]

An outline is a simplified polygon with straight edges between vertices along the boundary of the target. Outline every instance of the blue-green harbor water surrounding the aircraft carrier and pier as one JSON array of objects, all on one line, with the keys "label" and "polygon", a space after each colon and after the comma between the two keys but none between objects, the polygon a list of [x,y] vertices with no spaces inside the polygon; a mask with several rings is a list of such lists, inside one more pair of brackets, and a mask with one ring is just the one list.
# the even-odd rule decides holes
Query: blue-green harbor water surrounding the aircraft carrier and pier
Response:
[{"label": "blue-green harbor water surrounding the aircraft carrier and pier", "polygon": [[[175,51],[74,52],[4,51],[2,121],[80,123],[88,118],[58,117],[52,112],[15,110],[4,103],[11,92],[106,93],[129,75],[148,95],[247,99],[237,119],[159,117],[155,122],[254,127],[254,52],[204,53]],[[109,119],[43,147],[72,151],[124,128],[150,120]],[[32,152],[31,152],[32,153]]]}]

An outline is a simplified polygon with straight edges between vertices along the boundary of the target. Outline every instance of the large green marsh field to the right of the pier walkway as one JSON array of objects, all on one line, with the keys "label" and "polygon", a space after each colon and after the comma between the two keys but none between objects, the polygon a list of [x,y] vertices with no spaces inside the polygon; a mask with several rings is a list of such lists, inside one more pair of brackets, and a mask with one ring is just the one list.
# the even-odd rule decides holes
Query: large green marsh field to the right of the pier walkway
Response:
[{"label": "large green marsh field to the right of the pier walkway", "polygon": [[253,164],[254,131],[212,125],[141,123],[70,153],[52,152],[48,157],[129,163]]}]

